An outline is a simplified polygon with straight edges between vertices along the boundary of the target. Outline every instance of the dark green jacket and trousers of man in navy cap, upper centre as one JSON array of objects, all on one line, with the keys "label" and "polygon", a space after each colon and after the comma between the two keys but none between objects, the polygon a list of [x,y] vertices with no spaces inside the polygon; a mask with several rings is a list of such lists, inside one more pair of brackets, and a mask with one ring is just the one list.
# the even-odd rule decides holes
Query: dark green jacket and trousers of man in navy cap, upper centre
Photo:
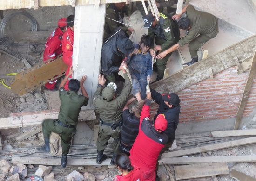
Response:
[{"label": "dark green jacket and trousers of man in navy cap, upper centre", "polygon": [[[157,25],[148,28],[148,35],[153,39],[155,38],[155,44],[161,45],[162,51],[167,50],[179,41],[180,37],[178,32],[179,29],[175,22],[162,13],[160,13],[160,19]],[[150,48],[154,48],[154,44],[152,44]],[[172,53],[169,53],[163,59],[156,61],[157,81],[163,78],[166,62],[171,54]]]}]

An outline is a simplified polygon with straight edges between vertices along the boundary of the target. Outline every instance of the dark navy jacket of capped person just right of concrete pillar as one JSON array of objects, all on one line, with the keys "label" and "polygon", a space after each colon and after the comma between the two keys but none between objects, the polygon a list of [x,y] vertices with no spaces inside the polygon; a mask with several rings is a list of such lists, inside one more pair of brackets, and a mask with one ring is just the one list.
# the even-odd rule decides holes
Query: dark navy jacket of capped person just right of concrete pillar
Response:
[{"label": "dark navy jacket of capped person just right of concrete pillar", "polygon": [[112,75],[118,72],[122,63],[123,54],[117,50],[116,41],[119,37],[126,37],[122,30],[110,37],[101,49],[101,69],[104,75]]}]

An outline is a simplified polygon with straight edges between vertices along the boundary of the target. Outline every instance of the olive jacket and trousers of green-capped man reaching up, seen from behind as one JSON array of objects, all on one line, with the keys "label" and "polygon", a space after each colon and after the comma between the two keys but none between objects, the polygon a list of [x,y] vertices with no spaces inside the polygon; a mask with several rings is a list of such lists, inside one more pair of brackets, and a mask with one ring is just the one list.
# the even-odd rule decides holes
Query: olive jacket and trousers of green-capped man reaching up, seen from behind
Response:
[{"label": "olive jacket and trousers of green-capped man reaching up, seen from behind", "polygon": [[[127,74],[124,74],[125,86],[121,94],[116,95],[115,99],[106,101],[102,98],[102,87],[98,87],[93,97],[93,105],[100,113],[100,119],[107,123],[104,123],[99,127],[98,139],[97,139],[97,150],[103,151],[107,145],[110,137],[114,138],[113,151],[114,154],[119,152],[120,144],[120,122],[122,121],[122,109],[128,99],[128,96],[132,90],[132,84]],[[106,88],[106,87],[105,87]],[[111,124],[115,123],[117,127],[115,130],[111,129]]]}]

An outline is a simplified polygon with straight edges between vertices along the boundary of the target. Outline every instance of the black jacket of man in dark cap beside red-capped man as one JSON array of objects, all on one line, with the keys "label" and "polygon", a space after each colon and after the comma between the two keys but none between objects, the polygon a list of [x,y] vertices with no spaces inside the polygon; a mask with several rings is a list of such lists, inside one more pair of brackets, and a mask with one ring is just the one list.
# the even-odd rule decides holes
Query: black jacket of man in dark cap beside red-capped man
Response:
[{"label": "black jacket of man in dark cap beside red-capped man", "polygon": [[155,119],[158,116],[158,114],[164,114],[165,119],[167,120],[167,128],[164,131],[166,135],[168,136],[168,142],[173,142],[175,138],[175,131],[177,129],[177,126],[179,124],[179,116],[180,116],[180,109],[181,106],[173,106],[169,108],[164,101],[162,100],[162,95],[158,92],[156,92],[154,89],[150,88],[151,91],[151,97],[157,104],[159,104],[159,108],[157,110],[157,113],[155,115]]}]

